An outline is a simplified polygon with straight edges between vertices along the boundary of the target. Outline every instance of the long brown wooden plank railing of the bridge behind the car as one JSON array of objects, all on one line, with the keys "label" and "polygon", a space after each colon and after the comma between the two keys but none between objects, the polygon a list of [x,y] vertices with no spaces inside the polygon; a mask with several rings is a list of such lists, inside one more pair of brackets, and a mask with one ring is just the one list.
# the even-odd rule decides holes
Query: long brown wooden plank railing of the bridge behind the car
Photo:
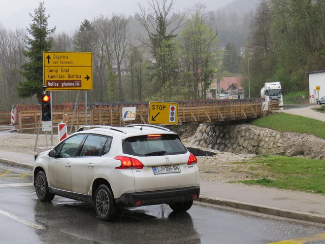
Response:
[{"label": "long brown wooden plank railing of the bridge behind the car", "polygon": [[[71,107],[72,108],[72,107]],[[93,106],[87,113],[88,125],[125,126],[134,123],[148,123],[149,107],[138,105],[136,117],[132,121],[122,118],[123,106]],[[19,131],[37,132],[40,110],[20,111]],[[262,110],[261,102],[251,103],[180,103],[178,106],[178,124],[219,123],[245,120],[265,116],[269,111]],[[73,115],[72,109],[54,110],[52,112],[53,128],[62,121],[77,128],[86,124],[85,110],[78,107]]]}]

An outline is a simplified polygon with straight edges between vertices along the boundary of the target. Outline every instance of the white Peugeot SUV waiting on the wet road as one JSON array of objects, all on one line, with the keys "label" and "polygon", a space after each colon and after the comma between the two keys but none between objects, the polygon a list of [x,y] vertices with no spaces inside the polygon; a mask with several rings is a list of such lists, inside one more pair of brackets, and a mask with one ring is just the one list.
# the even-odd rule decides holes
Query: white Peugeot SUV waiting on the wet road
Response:
[{"label": "white Peugeot SUV waiting on the wet road", "polygon": [[144,205],[187,211],[200,191],[195,155],[176,133],[146,124],[80,128],[35,156],[33,183],[40,201],[60,195],[93,203],[104,221]]}]

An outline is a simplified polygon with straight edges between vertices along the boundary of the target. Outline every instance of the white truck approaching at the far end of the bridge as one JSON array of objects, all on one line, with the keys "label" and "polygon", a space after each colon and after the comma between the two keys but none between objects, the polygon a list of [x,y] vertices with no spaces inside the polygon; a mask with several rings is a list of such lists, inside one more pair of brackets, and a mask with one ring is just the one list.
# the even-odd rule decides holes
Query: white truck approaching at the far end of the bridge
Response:
[{"label": "white truck approaching at the far end of the bridge", "polygon": [[261,98],[265,102],[279,102],[280,107],[283,107],[283,94],[280,81],[265,82],[264,87],[260,89]]}]

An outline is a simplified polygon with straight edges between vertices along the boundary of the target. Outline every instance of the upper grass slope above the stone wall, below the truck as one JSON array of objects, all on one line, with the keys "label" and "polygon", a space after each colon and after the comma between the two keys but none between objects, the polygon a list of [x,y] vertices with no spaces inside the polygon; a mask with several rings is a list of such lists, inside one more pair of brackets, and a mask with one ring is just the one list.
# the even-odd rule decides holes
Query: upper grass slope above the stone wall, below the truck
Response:
[{"label": "upper grass slope above the stone wall, below the truck", "polygon": [[256,119],[250,124],[279,132],[296,132],[325,139],[324,121],[288,113],[276,113]]}]

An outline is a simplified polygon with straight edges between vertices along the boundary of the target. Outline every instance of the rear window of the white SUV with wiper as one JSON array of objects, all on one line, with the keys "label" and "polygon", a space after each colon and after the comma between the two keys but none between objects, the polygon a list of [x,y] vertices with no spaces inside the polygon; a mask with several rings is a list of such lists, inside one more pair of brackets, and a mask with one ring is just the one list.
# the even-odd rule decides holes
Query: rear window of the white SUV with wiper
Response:
[{"label": "rear window of the white SUV with wiper", "polygon": [[178,135],[148,135],[124,140],[123,153],[134,156],[159,156],[187,152]]}]

